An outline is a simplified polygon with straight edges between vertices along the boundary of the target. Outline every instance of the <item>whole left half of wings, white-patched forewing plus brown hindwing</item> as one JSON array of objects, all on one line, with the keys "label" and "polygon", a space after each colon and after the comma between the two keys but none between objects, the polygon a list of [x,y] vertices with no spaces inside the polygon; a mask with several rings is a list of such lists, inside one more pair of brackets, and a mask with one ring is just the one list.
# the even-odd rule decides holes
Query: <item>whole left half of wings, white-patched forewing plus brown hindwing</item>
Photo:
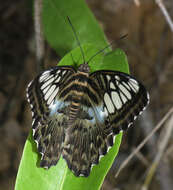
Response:
[{"label": "whole left half of wings, white-patched forewing plus brown hindwing", "polygon": [[68,103],[58,94],[66,79],[75,70],[69,66],[54,67],[38,75],[27,88],[27,98],[32,110],[33,137],[42,154],[41,167],[55,165],[62,152],[65,121],[63,112]]}]

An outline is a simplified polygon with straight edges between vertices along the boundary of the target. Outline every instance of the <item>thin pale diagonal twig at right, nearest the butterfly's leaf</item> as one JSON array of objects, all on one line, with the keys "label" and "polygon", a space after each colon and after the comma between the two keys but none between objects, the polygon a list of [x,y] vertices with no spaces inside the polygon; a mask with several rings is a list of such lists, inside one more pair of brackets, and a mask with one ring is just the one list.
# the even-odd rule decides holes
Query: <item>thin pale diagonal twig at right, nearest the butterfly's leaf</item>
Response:
[{"label": "thin pale diagonal twig at right, nearest the butterfly's leaf", "polygon": [[156,127],[151,131],[151,133],[139,144],[139,146],[130,154],[127,159],[122,163],[118,169],[115,177],[118,177],[121,170],[129,163],[133,156],[139,152],[139,150],[145,145],[145,143],[153,136],[153,134],[160,129],[163,123],[168,119],[168,117],[173,113],[173,107],[168,111],[168,113],[163,117],[163,119],[156,125]]}]

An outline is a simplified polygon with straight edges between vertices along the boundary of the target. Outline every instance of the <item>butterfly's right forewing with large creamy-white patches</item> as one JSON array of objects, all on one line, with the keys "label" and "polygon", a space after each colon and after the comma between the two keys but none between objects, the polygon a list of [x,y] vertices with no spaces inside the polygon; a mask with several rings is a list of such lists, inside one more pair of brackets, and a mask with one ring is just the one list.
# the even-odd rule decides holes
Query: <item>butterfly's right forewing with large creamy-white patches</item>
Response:
[{"label": "butterfly's right forewing with large creamy-white patches", "polygon": [[101,89],[106,123],[113,134],[126,130],[149,103],[145,87],[134,77],[118,71],[96,71],[90,75]]}]

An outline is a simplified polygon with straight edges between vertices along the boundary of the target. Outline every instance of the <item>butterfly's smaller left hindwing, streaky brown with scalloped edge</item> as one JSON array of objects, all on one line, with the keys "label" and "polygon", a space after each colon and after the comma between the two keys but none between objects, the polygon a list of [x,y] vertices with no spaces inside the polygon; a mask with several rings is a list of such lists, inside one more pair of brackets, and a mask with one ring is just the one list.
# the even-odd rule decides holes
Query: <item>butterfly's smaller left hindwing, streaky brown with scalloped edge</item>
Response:
[{"label": "butterfly's smaller left hindwing, streaky brown with scalloped edge", "polygon": [[50,168],[56,165],[62,152],[65,125],[62,115],[54,115],[33,129],[38,151],[42,154],[40,166]]}]

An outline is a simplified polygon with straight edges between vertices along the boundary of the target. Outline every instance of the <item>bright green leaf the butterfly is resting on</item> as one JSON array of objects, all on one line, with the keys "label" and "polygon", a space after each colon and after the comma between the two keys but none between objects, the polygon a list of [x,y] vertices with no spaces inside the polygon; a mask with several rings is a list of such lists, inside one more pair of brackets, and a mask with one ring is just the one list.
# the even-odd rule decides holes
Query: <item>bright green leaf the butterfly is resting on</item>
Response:
[{"label": "bright green leaf the butterfly is resting on", "polygon": [[[86,44],[82,46],[86,59],[89,59],[93,54],[98,52],[98,48]],[[83,62],[81,51],[79,48],[68,53],[59,63],[59,65],[73,65],[74,62],[81,64]],[[120,64],[119,64],[120,63]],[[97,55],[91,62],[91,70],[112,69],[112,66],[117,69],[128,71],[126,56],[120,49],[103,56]],[[113,148],[104,156],[100,163],[93,167],[92,172],[88,178],[75,177],[68,169],[66,162],[61,158],[55,167],[45,170],[39,167],[40,155],[37,153],[36,144],[30,134],[24,148],[22,160],[20,163],[16,190],[87,190],[92,186],[92,189],[99,189],[105,175],[111,167],[118,149],[120,146],[122,134],[117,135]]]}]

